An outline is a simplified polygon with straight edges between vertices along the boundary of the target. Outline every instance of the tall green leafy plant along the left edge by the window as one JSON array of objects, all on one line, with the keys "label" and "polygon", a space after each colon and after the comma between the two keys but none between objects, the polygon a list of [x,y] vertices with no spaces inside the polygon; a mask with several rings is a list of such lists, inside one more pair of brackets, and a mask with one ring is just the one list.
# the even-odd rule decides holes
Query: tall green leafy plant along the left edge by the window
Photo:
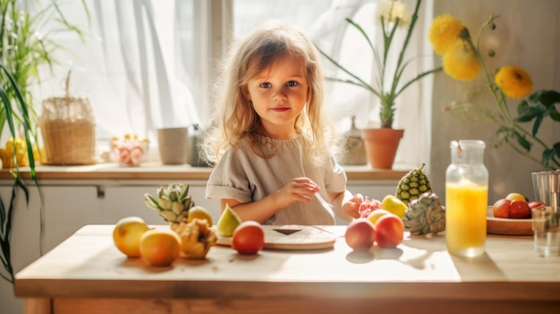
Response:
[{"label": "tall green leafy plant along the left edge by the window", "polygon": [[[36,4],[42,3],[38,1]],[[82,4],[87,12],[85,3]],[[0,269],[0,276],[11,283],[13,202],[20,190],[29,200],[29,191],[20,175],[22,165],[30,166],[30,179],[38,185],[35,168],[37,156],[33,154],[33,146],[38,143],[37,114],[33,108],[30,85],[40,81],[41,66],[52,67],[55,64],[52,54],[61,47],[49,40],[49,35],[56,31],[71,30],[81,36],[81,30],[64,18],[55,0],[48,1],[44,7],[36,7],[34,13],[26,10],[27,5],[30,4],[21,0],[0,0],[0,137],[7,125],[12,139],[21,140],[8,142],[9,146],[13,145],[12,149],[6,149],[13,154],[13,157],[9,157],[13,189],[8,204],[0,199],[0,261],[4,267],[4,270]],[[53,14],[63,27],[47,32],[39,30],[41,22],[52,18]],[[18,158],[18,154],[23,154],[24,158]]]}]

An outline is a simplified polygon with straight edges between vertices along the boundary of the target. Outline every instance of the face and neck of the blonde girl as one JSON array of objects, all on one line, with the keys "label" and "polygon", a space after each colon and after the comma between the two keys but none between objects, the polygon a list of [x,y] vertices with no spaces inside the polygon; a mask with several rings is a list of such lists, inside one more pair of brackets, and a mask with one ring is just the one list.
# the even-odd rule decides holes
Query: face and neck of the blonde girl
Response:
[{"label": "face and neck of the blonde girl", "polygon": [[251,78],[245,94],[268,135],[287,140],[297,135],[295,121],[309,89],[301,57],[285,56]]}]

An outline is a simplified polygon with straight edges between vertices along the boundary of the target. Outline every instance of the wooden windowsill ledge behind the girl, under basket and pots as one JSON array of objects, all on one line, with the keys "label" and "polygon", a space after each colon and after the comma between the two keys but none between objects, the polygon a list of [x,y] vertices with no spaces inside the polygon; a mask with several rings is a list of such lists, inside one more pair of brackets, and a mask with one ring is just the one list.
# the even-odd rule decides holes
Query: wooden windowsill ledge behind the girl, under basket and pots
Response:
[{"label": "wooden windowsill ledge behind the girl, under basket and pots", "polygon": [[[346,165],[346,175],[350,180],[399,180],[409,170],[371,169],[369,165]],[[117,179],[117,180],[208,180],[212,172],[209,167],[185,165],[162,165],[147,162],[140,166],[121,166],[115,163],[97,165],[38,165],[38,179]],[[22,167],[23,178],[30,178],[30,168]],[[11,179],[9,169],[0,171],[0,179]]]}]

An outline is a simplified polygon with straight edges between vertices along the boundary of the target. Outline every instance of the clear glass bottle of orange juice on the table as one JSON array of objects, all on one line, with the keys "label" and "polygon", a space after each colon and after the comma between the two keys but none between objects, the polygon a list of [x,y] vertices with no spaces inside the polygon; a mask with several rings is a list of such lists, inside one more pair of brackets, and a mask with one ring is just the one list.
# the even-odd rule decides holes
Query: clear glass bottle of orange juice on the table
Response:
[{"label": "clear glass bottle of orange juice on the table", "polygon": [[488,208],[488,170],[482,140],[452,140],[445,171],[445,242],[457,256],[484,253]]}]

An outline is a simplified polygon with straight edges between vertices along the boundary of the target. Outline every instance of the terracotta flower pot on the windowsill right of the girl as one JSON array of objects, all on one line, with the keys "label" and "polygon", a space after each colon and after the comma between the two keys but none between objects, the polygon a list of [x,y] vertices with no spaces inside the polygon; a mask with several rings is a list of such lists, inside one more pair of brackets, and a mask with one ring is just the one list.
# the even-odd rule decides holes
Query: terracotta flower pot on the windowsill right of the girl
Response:
[{"label": "terracotta flower pot on the windowsill right of the girl", "polygon": [[376,169],[391,169],[395,161],[396,149],[403,138],[404,130],[362,129],[361,138],[366,147],[369,164]]}]

